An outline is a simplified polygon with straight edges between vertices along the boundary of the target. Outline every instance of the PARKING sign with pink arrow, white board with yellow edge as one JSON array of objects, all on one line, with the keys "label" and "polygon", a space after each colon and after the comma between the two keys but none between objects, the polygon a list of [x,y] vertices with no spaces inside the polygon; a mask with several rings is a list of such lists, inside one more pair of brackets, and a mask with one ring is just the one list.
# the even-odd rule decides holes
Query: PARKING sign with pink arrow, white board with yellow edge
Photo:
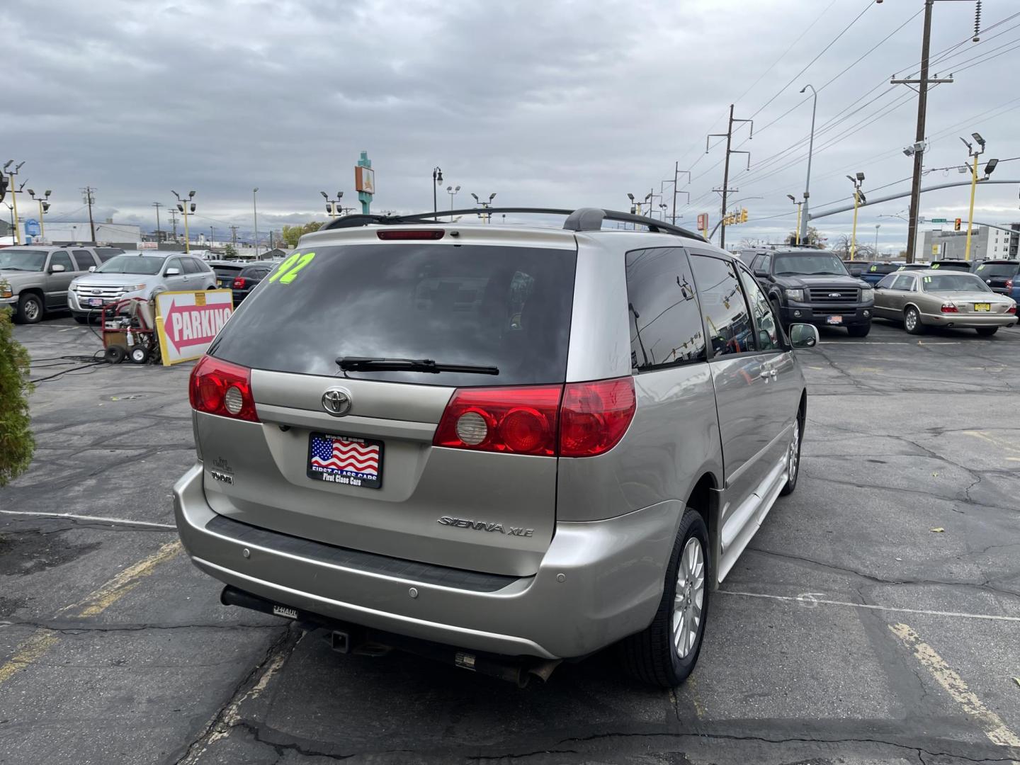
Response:
[{"label": "PARKING sign with pink arrow, white board with yellow edge", "polygon": [[156,326],[163,365],[199,358],[233,312],[234,293],[230,290],[157,295]]}]

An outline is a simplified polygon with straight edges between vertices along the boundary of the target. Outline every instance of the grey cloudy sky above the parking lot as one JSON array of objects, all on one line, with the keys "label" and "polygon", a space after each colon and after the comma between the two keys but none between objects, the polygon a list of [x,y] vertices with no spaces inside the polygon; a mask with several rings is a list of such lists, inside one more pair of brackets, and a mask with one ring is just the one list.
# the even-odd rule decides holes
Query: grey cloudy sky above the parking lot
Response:
[{"label": "grey cloudy sky above the parking lot", "polygon": [[[2,159],[54,193],[51,215],[152,228],[151,203],[196,190],[208,232],[322,219],[319,191],[351,200],[367,150],[373,210],[430,209],[432,167],[458,206],[498,193],[506,205],[624,209],[681,170],[677,214],[719,217],[725,115],[754,118],[734,145],[730,186],[751,222],[727,239],[779,237],[804,191],[810,92],[818,90],[814,211],[850,197],[909,190],[923,0],[5,0]],[[932,73],[955,74],[928,100],[925,184],[964,180],[959,136],[984,155],[1020,157],[1020,4],[935,3]],[[855,20],[856,19],[856,20]],[[998,24],[998,26],[996,26]],[[935,55],[937,54],[937,55]],[[1020,160],[994,177],[1020,178]],[[872,191],[874,190],[874,191]],[[967,188],[922,196],[922,214],[966,218]],[[757,199],[760,197],[760,199]],[[671,187],[664,201],[672,203]],[[656,204],[659,200],[656,199]],[[466,205],[465,205],[466,206]],[[902,247],[906,199],[862,210],[867,242]],[[6,210],[4,210],[6,212]],[[1020,220],[1017,186],[979,189],[975,218]],[[833,238],[851,215],[815,224]],[[866,236],[865,236],[866,234]],[[218,233],[217,233],[218,236]]]}]

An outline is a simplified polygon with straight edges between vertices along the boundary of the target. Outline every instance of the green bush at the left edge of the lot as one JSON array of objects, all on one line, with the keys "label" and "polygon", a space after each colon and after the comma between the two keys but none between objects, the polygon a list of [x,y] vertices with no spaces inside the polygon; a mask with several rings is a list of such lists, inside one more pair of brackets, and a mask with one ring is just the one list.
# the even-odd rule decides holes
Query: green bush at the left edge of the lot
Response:
[{"label": "green bush at the left edge of the lot", "polygon": [[29,352],[14,340],[10,317],[9,309],[0,309],[0,487],[29,468],[36,448],[29,417]]}]

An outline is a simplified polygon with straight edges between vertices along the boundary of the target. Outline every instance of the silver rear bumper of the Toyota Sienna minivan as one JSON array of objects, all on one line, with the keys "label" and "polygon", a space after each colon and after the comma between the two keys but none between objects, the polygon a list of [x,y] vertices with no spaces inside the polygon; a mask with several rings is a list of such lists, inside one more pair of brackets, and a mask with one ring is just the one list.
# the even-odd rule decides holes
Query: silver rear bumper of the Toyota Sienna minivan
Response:
[{"label": "silver rear bumper of the Toyota Sienna minivan", "polygon": [[209,528],[222,516],[205,499],[203,473],[198,463],[174,486],[174,516],[195,565],[220,581],[374,629],[546,659],[590,654],[651,622],[683,509],[665,502],[609,520],[557,523],[534,575],[479,592],[457,586],[456,576],[437,583],[431,572],[411,573],[424,567],[408,561],[376,556],[397,571],[384,573],[378,564],[360,566],[356,551],[323,555],[325,546],[311,543],[303,554],[301,541],[287,534],[255,529],[242,541],[222,522]]}]

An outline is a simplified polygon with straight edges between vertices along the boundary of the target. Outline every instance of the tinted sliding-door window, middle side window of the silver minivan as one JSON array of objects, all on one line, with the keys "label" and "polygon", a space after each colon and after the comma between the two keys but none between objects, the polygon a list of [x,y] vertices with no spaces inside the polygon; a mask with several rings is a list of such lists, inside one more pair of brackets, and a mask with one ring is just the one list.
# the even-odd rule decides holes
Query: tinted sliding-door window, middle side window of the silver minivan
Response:
[{"label": "tinted sliding-door window, middle side window of the silver minivan", "polygon": [[733,264],[707,255],[692,255],[691,266],[713,353],[725,356],[755,350],[751,314]]}]

